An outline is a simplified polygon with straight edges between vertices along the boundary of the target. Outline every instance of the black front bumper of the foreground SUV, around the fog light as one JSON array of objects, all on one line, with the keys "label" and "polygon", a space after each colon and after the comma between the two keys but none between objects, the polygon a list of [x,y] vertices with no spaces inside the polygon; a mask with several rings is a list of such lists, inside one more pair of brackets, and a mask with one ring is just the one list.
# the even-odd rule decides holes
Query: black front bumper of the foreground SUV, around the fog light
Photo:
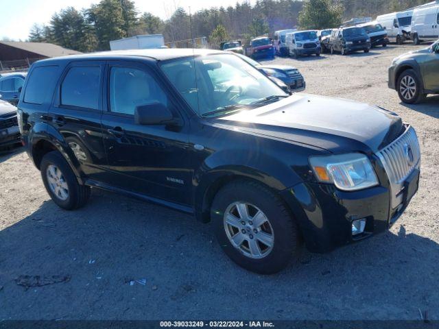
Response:
[{"label": "black front bumper of the foreground SUV, around the fog light", "polygon": [[[287,188],[282,196],[294,212],[307,249],[323,253],[388,230],[410,203],[407,199],[392,209],[391,193],[385,186],[346,192],[329,184],[302,182]],[[366,219],[366,228],[353,236],[356,219]]]}]

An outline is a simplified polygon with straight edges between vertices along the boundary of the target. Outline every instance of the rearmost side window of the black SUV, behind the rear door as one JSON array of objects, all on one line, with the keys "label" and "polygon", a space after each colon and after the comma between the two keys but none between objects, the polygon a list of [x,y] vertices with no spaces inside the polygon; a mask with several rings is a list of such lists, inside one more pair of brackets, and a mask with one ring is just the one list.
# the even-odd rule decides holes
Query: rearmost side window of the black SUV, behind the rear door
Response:
[{"label": "rearmost side window of the black SUV, behind the rear door", "polygon": [[29,77],[25,90],[25,103],[42,104],[52,94],[58,73],[58,66],[38,66]]}]

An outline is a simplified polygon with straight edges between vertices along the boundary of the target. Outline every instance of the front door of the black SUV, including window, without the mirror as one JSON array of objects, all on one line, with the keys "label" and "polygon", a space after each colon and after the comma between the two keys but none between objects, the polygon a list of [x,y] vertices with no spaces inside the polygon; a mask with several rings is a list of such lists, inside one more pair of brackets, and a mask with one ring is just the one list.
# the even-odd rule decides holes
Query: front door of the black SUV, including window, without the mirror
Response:
[{"label": "front door of the black SUV, including window, without the mirror", "polygon": [[[108,171],[115,173],[119,188],[190,204],[189,123],[155,70],[149,64],[108,62],[102,116]],[[136,107],[154,103],[169,108],[181,124],[135,123]]]}]

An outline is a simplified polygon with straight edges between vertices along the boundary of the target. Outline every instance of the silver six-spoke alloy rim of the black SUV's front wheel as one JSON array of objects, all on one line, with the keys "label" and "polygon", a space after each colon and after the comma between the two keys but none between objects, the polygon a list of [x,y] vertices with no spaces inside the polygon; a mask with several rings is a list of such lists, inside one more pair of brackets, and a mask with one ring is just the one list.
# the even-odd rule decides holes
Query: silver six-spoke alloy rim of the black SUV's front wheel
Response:
[{"label": "silver six-spoke alloy rim of the black SUV's front wheel", "polygon": [[274,231],[262,210],[234,202],[224,212],[224,230],[230,243],[248,258],[264,258],[273,249]]}]

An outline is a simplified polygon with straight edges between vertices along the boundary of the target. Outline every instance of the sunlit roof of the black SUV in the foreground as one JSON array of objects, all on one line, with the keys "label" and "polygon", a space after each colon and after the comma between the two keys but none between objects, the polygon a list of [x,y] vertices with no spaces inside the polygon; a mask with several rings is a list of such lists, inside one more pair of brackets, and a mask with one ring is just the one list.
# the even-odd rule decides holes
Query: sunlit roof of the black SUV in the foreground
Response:
[{"label": "sunlit roof of the black SUV in the foreground", "polygon": [[189,56],[206,56],[213,53],[224,53],[224,51],[213,49],[130,49],[117,51],[102,51],[97,53],[84,53],[80,55],[63,56],[58,58],[49,58],[40,60],[38,63],[63,62],[73,60],[106,60],[106,59],[123,59],[132,57],[150,58],[152,60],[172,60],[175,58],[184,58]]}]

